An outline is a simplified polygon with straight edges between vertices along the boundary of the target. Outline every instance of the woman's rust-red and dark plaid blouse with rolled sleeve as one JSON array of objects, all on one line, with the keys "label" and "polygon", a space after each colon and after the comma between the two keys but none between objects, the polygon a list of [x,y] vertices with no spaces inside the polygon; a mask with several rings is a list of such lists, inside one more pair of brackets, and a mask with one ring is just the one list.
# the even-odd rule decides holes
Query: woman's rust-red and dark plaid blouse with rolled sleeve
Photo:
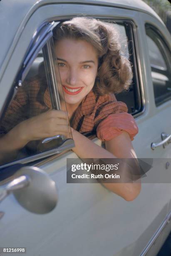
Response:
[{"label": "woman's rust-red and dark plaid blouse with rolled sleeve", "polygon": [[[46,78],[38,76],[24,82],[8,107],[0,125],[5,134],[18,123],[52,109]],[[70,125],[80,133],[93,131],[101,141],[109,141],[122,131],[129,133],[131,140],[138,127],[126,104],[117,101],[114,94],[96,96],[91,90],[72,115]]]}]

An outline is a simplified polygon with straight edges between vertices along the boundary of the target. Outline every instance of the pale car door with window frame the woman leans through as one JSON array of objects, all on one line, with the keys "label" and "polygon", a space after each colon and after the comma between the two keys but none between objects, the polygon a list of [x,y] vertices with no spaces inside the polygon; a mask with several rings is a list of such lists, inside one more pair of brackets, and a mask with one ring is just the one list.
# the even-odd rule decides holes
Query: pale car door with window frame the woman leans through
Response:
[{"label": "pale car door with window frame the woman leans through", "polygon": [[[148,88],[145,74],[147,70],[144,67],[144,59],[146,61],[149,61],[149,59],[143,47],[142,42],[144,39],[141,41],[145,36],[145,32],[139,21],[140,12],[138,11],[86,4],[65,4],[65,8],[63,5],[55,4],[40,6],[35,13],[30,14],[31,18],[25,22],[25,29],[20,35],[20,40],[1,80],[0,89],[2,90],[3,88],[6,95],[8,94],[7,90],[9,91],[10,85],[5,87],[5,79],[10,76],[11,81],[14,81],[14,76],[18,74],[17,71],[23,62],[23,56],[27,51],[32,36],[35,30],[40,28],[43,21],[58,21],[75,15],[82,15],[82,13],[89,16],[98,16],[103,20],[110,18],[111,22],[117,21],[118,26],[121,26],[121,31],[124,32],[121,35],[124,38],[127,36],[130,40],[128,51],[132,53],[135,86],[129,92],[131,100],[129,99],[129,102],[126,103],[129,105],[129,112],[134,114],[140,131],[133,144],[137,156],[149,157],[149,153],[145,154],[148,148],[148,152],[153,152],[153,155],[150,156],[154,157],[156,151],[151,150],[152,138],[156,138],[154,131],[151,130],[148,136],[145,136],[146,133],[144,132],[144,127],[149,125],[147,121],[151,122],[153,116],[152,113],[144,111],[145,105],[146,110],[149,110],[149,99],[146,98]],[[134,23],[136,23],[136,26],[134,26]],[[23,38],[25,38],[27,44],[21,47]],[[50,60],[49,55],[46,57],[46,53],[47,49],[44,51],[44,58],[47,64],[46,69],[48,69],[48,60],[52,63],[52,59]],[[18,56],[19,60],[15,62],[16,56]],[[13,73],[10,74],[10,65],[14,65],[14,63],[16,63],[16,67],[14,67],[14,70],[16,68],[15,75]],[[50,74],[52,74],[52,70],[50,70]],[[149,73],[149,75],[151,74]],[[54,84],[52,83],[51,85],[51,88],[55,90]],[[51,95],[51,101],[54,100],[54,104],[57,106],[58,101],[54,97],[54,92]],[[119,97],[120,99],[123,98],[123,100],[125,98],[126,100],[128,99],[124,95],[118,95],[118,99]],[[4,102],[5,100],[3,99]],[[154,106],[150,108],[154,109]],[[5,107],[1,110],[4,113]],[[144,140],[144,136],[146,140]],[[72,140],[72,138],[70,139]],[[93,141],[101,145],[101,141],[97,138],[94,138]],[[141,144],[139,141],[141,141]],[[163,189],[163,195],[167,192],[166,189],[157,187],[156,184],[143,184],[139,197],[133,202],[126,202],[102,187],[101,184],[68,184],[66,183],[66,159],[77,158],[69,149],[72,146],[72,141],[70,141],[70,144],[67,144],[67,148],[60,149],[60,154],[57,151],[51,151],[50,154],[52,156],[42,156],[45,159],[35,154],[35,159],[28,159],[27,156],[24,160],[21,161],[20,159],[17,162],[17,164],[36,166],[44,170],[50,179],[55,181],[58,202],[51,212],[45,215],[38,215],[22,208],[13,195],[6,197],[0,203],[1,245],[3,247],[26,247],[27,254],[35,256],[43,256],[47,255],[47,253],[51,255],[69,254],[82,256],[139,255],[166,217],[168,201],[166,199],[162,202],[163,196],[161,196],[161,189]],[[19,167],[14,166],[12,163],[10,163],[10,166],[11,169],[8,169],[10,175],[1,182],[2,188],[6,186],[6,182],[15,177],[15,169]],[[11,174],[14,176],[11,176]],[[151,191],[155,191],[155,195],[151,194]],[[158,197],[157,200],[156,195]],[[159,195],[161,199],[160,205]],[[151,211],[150,214],[149,211]],[[150,228],[150,232],[148,228]]]}]

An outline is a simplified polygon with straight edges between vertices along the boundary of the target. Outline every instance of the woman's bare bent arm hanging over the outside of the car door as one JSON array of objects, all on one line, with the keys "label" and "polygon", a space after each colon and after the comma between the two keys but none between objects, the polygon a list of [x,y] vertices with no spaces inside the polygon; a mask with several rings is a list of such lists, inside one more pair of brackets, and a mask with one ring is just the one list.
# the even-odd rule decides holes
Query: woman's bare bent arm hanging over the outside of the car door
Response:
[{"label": "woman's bare bent arm hanging over the outside of the car door", "polygon": [[[72,150],[80,158],[136,158],[129,134],[126,132],[122,132],[116,138],[106,141],[107,150],[74,129],[72,129],[72,136],[75,142],[75,147]],[[141,190],[140,181],[134,183],[103,183],[103,185],[126,201],[134,200]]]}]

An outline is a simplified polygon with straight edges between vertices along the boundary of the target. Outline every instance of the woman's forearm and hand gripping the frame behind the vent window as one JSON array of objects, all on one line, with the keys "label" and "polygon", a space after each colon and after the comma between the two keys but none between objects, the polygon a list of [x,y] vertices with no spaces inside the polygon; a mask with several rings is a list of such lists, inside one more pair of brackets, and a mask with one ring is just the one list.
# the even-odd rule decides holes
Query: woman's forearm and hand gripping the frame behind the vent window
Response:
[{"label": "woman's forearm and hand gripping the frame behind the vent window", "polygon": [[15,160],[28,142],[57,134],[66,136],[68,130],[67,113],[62,110],[48,110],[22,121],[0,138],[0,164]]}]

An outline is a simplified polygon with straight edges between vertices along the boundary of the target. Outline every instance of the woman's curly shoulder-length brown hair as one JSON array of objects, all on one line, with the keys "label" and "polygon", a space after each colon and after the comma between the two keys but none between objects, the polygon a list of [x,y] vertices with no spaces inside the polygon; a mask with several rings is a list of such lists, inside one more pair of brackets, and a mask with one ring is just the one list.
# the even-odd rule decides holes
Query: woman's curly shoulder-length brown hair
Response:
[{"label": "woman's curly shoulder-length brown hair", "polygon": [[112,23],[94,18],[77,17],[59,23],[53,31],[54,41],[62,38],[85,40],[97,50],[99,65],[93,87],[96,95],[128,90],[132,69],[128,59],[121,55],[119,33]]}]

